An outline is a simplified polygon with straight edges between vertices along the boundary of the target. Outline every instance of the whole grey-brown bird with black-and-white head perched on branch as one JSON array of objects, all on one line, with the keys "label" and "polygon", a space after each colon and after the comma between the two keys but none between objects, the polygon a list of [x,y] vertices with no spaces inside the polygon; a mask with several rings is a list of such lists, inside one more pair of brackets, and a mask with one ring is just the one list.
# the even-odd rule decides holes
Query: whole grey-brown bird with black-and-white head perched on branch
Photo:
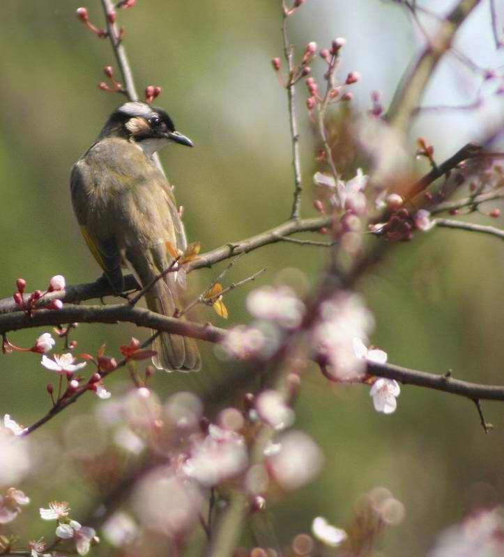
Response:
[{"label": "whole grey-brown bird with black-and-white head perched on branch", "polygon": [[[187,240],[171,186],[153,160],[169,143],[192,147],[160,108],[130,101],[116,108],[98,138],[72,167],[70,192],[77,221],[114,292],[124,289],[123,267],[146,288],[167,269]],[[147,307],[174,316],[181,309],[185,273],[169,272],[145,293]],[[153,364],[166,371],[197,371],[194,338],[162,333]]]}]

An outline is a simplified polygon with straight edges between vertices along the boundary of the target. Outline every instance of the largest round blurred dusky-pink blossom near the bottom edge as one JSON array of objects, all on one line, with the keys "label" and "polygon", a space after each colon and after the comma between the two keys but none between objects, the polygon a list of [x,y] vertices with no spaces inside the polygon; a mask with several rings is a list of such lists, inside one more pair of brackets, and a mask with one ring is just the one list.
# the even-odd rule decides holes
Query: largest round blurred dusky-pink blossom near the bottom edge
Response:
[{"label": "largest round blurred dusky-pink blossom near the bottom edge", "polygon": [[169,466],[148,473],[139,482],[133,499],[142,524],[171,537],[188,531],[208,506],[197,484],[177,476]]}]

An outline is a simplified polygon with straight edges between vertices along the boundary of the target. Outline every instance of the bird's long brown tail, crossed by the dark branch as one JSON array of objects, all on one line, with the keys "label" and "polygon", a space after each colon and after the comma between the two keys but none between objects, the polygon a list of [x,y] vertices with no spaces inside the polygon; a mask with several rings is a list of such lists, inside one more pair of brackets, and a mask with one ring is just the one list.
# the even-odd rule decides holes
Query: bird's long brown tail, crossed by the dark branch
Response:
[{"label": "bird's long brown tail, crossed by the dark branch", "polygon": [[[153,285],[145,297],[147,307],[162,315],[172,317],[176,308],[180,309],[176,295],[163,280]],[[154,341],[153,350],[158,352],[152,359],[158,369],[189,372],[201,368],[201,356],[194,338],[162,333]]]}]

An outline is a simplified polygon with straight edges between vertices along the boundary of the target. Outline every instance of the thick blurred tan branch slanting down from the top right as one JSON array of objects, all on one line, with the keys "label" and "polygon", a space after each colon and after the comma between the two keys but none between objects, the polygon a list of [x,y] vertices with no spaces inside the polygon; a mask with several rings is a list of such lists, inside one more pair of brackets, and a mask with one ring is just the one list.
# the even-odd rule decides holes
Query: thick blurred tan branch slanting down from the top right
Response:
[{"label": "thick blurred tan branch slanting down from the top right", "polygon": [[420,104],[436,66],[450,49],[461,24],[479,3],[480,0],[459,0],[441,23],[436,36],[407,68],[388,109],[387,119],[391,125],[406,132],[412,112]]}]

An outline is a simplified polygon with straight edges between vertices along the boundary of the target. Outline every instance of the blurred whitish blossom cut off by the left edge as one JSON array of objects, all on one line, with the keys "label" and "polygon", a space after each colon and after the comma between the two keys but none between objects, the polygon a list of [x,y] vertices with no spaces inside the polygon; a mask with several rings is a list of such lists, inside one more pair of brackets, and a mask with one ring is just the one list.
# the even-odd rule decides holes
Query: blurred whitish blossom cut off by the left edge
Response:
[{"label": "blurred whitish blossom cut off by the left edge", "polygon": [[13,435],[10,428],[0,427],[0,485],[20,482],[31,464],[28,439]]}]

